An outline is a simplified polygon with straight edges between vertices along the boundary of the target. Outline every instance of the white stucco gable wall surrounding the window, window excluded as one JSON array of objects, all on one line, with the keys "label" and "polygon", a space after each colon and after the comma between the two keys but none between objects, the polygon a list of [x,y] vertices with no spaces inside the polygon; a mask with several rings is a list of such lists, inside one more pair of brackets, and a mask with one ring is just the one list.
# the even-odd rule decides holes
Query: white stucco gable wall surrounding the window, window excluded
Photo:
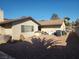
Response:
[{"label": "white stucco gable wall surrounding the window, window excluded", "polygon": [[[19,23],[19,24],[16,24],[16,23],[13,23],[13,26],[12,26],[12,37],[13,37],[13,39],[19,39],[21,34],[24,35],[24,37],[32,36],[35,31],[38,31],[38,24],[36,24],[32,20],[28,20],[26,22],[22,22],[22,23]],[[34,26],[34,31],[23,33],[23,32],[21,32],[21,25],[32,25],[32,26]]]}]

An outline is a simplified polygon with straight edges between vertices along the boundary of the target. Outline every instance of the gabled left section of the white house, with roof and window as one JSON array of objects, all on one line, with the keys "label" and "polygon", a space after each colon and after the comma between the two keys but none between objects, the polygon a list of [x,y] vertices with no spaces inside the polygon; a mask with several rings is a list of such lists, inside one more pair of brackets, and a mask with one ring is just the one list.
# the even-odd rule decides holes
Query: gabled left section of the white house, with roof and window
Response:
[{"label": "gabled left section of the white house, with roof and window", "polygon": [[13,39],[20,39],[20,35],[32,36],[38,31],[40,24],[31,17],[18,20],[4,20],[0,22],[0,34],[11,35]]}]

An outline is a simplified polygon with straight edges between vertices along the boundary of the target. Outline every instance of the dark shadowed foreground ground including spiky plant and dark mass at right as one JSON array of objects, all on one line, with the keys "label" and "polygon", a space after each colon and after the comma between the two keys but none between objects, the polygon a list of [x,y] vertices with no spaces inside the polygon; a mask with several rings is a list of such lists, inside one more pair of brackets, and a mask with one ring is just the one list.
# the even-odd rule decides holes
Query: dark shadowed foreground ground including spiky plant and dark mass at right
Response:
[{"label": "dark shadowed foreground ground including spiky plant and dark mass at right", "polygon": [[0,51],[16,59],[79,59],[79,37],[71,32],[67,38],[67,46],[52,46],[54,42],[40,38],[32,39],[32,43],[16,41],[0,45]]}]

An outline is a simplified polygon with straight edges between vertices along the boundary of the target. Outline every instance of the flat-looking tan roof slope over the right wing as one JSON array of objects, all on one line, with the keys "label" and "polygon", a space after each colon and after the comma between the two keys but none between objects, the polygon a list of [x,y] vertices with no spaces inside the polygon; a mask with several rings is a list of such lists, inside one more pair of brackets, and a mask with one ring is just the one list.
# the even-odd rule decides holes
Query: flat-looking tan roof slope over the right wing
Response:
[{"label": "flat-looking tan roof slope over the right wing", "polygon": [[42,26],[50,26],[50,25],[62,25],[63,20],[46,20],[46,21],[39,21]]}]

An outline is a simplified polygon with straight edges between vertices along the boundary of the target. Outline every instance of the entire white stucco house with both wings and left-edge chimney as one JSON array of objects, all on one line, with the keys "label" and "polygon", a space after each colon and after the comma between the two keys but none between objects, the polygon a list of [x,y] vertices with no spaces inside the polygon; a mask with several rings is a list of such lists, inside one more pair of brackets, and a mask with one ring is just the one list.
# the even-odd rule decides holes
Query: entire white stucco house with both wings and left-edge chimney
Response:
[{"label": "entire white stucco house with both wings and left-edge chimney", "polygon": [[56,30],[65,30],[62,20],[50,20],[37,22],[32,17],[22,17],[19,19],[6,19],[3,10],[0,9],[0,34],[11,35],[12,39],[20,39],[20,35],[33,36],[36,31],[53,33]]}]

